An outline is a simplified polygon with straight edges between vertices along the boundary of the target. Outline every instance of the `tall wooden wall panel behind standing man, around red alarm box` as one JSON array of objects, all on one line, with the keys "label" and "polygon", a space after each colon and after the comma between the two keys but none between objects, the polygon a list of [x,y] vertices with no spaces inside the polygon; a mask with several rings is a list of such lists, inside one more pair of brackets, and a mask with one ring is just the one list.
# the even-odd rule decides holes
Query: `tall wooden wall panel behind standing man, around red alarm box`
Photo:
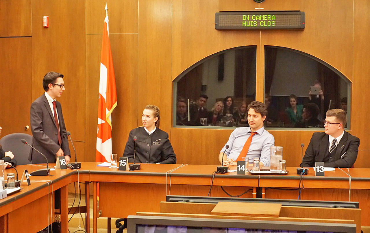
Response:
[{"label": "tall wooden wall panel behind standing man, around red alarm box", "polygon": [[[49,16],[49,27],[41,25]],[[65,91],[58,101],[67,131],[85,140],[85,1],[34,0],[32,5],[32,100],[43,94],[48,71],[64,75]]]}]

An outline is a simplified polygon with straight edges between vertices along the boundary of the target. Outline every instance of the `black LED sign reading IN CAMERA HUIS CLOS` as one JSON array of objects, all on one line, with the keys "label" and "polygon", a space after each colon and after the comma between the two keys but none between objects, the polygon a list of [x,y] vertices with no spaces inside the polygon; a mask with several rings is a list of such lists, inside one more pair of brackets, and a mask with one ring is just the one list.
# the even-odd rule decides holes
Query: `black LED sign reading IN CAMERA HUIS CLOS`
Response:
[{"label": "black LED sign reading IN CAMERA HUIS CLOS", "polygon": [[215,28],[223,29],[305,29],[303,11],[244,11],[215,13]]}]

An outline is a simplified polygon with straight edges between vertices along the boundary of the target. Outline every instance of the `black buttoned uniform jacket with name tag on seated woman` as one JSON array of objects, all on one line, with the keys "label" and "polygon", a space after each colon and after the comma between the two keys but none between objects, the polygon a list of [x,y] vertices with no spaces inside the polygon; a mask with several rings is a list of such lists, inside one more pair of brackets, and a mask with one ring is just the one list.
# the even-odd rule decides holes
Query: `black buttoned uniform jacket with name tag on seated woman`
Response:
[{"label": "black buttoned uniform jacket with name tag on seated woman", "polygon": [[144,127],[132,129],[123,152],[128,162],[134,162],[134,136],[136,139],[136,162],[176,163],[176,155],[168,139],[168,134],[159,128],[149,135]]}]

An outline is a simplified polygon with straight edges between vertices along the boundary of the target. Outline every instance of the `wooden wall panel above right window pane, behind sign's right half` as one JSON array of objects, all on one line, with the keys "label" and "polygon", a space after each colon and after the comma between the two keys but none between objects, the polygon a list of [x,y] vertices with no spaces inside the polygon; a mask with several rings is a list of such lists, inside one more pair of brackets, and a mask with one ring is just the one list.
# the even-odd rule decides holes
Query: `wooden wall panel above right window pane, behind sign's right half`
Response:
[{"label": "wooden wall panel above right window pane, behind sign's right half", "polygon": [[[261,50],[263,45],[277,45],[303,51],[329,63],[352,80],[353,2],[292,2],[266,1],[263,6],[264,10],[296,10],[299,7],[306,13],[305,30],[261,30]],[[336,26],[323,22],[336,22]]]}]

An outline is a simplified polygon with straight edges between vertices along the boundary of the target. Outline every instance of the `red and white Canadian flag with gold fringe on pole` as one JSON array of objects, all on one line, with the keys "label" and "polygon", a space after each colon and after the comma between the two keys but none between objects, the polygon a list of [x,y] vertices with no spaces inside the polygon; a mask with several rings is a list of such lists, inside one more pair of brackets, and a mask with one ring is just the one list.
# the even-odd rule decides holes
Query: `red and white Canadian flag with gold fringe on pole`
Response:
[{"label": "red and white Canadian flag with gold fringe on pole", "polygon": [[112,153],[112,111],[117,106],[117,94],[111,44],[109,42],[108,15],[104,20],[100,58],[98,101],[98,133],[96,138],[96,162],[110,162]]}]

